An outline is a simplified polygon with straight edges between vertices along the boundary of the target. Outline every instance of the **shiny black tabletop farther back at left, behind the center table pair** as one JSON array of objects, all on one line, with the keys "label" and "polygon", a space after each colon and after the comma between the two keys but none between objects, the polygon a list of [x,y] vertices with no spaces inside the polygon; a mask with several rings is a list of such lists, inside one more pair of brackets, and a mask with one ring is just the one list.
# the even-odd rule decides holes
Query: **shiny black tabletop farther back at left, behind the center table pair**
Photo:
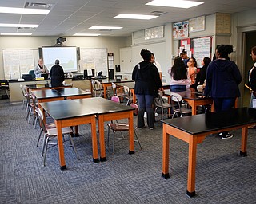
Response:
[{"label": "shiny black tabletop farther back at left, behind the center table pair", "polygon": [[41,90],[35,90],[33,93],[37,99],[67,97],[67,96],[83,96],[83,95],[91,94],[90,92],[82,91],[79,88],[41,89]]}]

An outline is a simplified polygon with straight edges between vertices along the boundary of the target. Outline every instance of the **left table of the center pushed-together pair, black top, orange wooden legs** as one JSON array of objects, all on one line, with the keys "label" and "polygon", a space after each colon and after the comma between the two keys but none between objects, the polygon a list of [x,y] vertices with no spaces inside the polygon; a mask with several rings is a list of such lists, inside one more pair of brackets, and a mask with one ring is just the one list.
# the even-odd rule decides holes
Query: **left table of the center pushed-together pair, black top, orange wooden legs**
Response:
[{"label": "left table of the center pushed-together pair, black top, orange wooden legs", "polygon": [[66,169],[64,146],[62,140],[63,127],[90,124],[93,161],[94,163],[98,162],[95,111],[91,108],[94,105],[94,101],[91,103],[90,99],[86,99],[86,101],[83,103],[81,103],[80,100],[57,100],[41,103],[41,107],[54,119],[54,123],[58,129],[58,155],[61,170]]}]

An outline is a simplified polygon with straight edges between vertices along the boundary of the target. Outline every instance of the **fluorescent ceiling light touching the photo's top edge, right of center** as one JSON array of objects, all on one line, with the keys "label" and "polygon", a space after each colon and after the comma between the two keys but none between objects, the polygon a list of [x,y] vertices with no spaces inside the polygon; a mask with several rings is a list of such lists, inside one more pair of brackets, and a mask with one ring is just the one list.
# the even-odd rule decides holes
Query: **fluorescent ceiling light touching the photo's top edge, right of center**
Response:
[{"label": "fluorescent ceiling light touching the photo's top edge, right of center", "polygon": [[146,3],[146,5],[150,6],[168,6],[168,7],[176,7],[176,8],[190,8],[193,6],[198,6],[203,2],[192,2],[192,1],[185,1],[185,0],[154,0],[152,2]]}]

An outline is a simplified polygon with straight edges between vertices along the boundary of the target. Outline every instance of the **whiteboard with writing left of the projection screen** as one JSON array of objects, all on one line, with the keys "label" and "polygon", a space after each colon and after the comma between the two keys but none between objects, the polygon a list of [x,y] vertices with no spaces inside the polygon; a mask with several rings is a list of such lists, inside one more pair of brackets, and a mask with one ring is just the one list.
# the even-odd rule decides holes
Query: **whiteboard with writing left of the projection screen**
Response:
[{"label": "whiteboard with writing left of the projection screen", "polygon": [[29,73],[34,69],[34,51],[33,49],[3,49],[3,69],[5,79],[18,79],[22,73]]}]

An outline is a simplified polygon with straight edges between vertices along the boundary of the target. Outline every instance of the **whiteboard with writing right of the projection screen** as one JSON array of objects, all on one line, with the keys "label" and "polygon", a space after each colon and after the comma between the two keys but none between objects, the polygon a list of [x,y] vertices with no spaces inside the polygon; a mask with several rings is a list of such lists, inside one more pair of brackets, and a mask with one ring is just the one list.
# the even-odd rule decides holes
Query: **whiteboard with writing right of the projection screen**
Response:
[{"label": "whiteboard with writing right of the projection screen", "polygon": [[102,71],[102,75],[108,77],[106,48],[82,48],[80,59],[80,72],[84,69],[95,69],[95,75]]}]

